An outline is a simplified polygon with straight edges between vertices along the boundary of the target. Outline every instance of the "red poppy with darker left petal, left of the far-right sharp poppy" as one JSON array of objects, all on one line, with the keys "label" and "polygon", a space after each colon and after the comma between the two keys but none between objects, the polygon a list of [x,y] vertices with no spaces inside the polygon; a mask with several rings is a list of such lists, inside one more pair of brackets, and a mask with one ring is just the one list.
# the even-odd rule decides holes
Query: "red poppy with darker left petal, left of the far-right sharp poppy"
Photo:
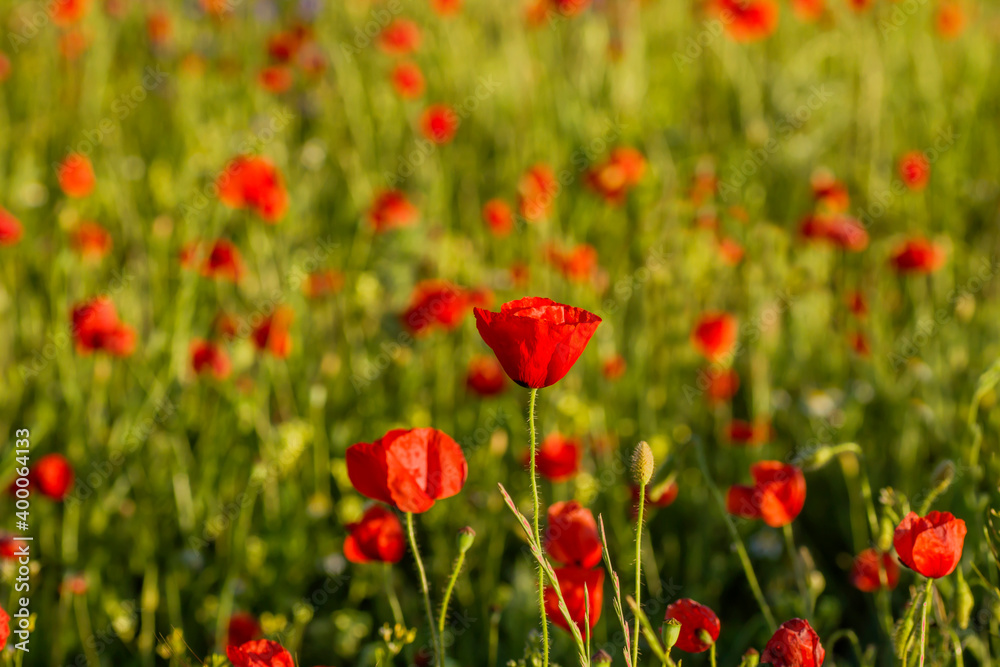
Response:
[{"label": "red poppy with darker left petal, left of the far-right sharp poppy", "polygon": [[750,466],[753,486],[729,487],[726,509],[744,519],[763,519],[772,528],[791,523],[806,502],[806,478],[793,465],[761,461]]}]

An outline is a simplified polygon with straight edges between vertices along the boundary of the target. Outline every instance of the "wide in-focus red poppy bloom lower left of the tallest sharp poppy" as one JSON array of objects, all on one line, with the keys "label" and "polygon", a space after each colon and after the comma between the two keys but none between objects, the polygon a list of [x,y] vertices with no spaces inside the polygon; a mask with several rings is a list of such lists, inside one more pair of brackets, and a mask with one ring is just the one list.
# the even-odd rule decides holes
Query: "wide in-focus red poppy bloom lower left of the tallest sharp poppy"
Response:
[{"label": "wide in-focus red poppy bloom lower left of the tallest sharp poppy", "polygon": [[469,466],[462,448],[433,428],[395,429],[347,450],[347,475],[359,493],[402,512],[426,512],[462,490]]}]

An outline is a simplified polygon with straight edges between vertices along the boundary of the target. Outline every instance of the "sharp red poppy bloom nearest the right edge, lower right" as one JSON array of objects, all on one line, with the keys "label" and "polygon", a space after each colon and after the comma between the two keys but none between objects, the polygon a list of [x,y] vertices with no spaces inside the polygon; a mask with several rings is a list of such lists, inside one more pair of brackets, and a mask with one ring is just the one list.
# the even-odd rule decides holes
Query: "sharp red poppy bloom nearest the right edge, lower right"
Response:
[{"label": "sharp red poppy bloom nearest the right edge, lower right", "polygon": [[910,512],[896,526],[892,545],[903,565],[931,579],[946,577],[962,559],[965,522],[948,512]]}]

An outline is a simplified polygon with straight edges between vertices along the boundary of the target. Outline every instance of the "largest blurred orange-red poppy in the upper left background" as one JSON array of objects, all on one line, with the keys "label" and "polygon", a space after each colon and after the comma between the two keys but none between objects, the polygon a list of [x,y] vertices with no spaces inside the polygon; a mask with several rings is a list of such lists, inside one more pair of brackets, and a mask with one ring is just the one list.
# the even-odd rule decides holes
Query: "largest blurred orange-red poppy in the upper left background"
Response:
[{"label": "largest blurred orange-red poppy in the upper left background", "polygon": [[226,206],[253,209],[265,222],[278,222],[288,210],[281,172],[265,158],[234,158],[219,175],[216,186]]}]

